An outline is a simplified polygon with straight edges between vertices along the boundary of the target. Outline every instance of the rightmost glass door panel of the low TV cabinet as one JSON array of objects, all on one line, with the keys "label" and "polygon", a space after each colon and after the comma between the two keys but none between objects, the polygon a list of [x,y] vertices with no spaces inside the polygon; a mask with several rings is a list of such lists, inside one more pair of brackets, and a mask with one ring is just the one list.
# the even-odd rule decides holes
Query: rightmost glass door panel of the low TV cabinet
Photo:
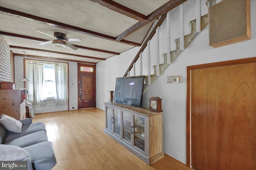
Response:
[{"label": "rightmost glass door panel of the low TV cabinet", "polygon": [[134,146],[145,152],[145,118],[134,115]]}]

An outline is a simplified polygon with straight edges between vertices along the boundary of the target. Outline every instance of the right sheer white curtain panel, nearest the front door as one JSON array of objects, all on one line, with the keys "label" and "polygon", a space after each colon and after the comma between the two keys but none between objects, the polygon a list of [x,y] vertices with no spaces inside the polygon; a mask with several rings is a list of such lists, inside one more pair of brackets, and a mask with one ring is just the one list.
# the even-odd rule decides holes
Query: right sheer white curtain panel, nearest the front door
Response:
[{"label": "right sheer white curtain panel, nearest the front door", "polygon": [[64,105],[68,101],[68,66],[55,63],[56,105]]}]

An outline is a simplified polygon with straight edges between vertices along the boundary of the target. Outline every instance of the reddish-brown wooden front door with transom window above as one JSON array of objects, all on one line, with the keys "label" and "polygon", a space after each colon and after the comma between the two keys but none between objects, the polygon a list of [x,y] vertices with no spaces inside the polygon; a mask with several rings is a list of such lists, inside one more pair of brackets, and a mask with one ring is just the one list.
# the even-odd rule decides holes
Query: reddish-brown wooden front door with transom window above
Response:
[{"label": "reddish-brown wooden front door with transom window above", "polygon": [[96,107],[95,65],[78,63],[78,109]]}]

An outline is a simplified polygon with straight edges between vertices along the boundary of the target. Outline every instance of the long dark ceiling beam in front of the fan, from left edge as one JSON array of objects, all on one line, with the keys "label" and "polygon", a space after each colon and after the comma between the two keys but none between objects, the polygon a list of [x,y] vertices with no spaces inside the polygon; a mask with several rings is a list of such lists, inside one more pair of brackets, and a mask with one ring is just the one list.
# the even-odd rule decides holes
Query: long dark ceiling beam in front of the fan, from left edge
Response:
[{"label": "long dark ceiling beam in front of the fan, from left edge", "polygon": [[90,35],[90,36],[93,36],[93,37],[107,39],[107,40],[110,40],[110,41],[115,41],[115,42],[118,42],[118,43],[124,43],[124,44],[132,45],[132,46],[140,46],[141,45],[140,43],[127,41],[127,40],[124,40],[124,39],[119,41],[119,40],[116,40],[116,37],[112,37],[112,36],[109,36],[109,35],[104,35],[102,33],[97,33],[97,32],[94,32],[94,31],[90,31],[88,29],[75,27],[75,26],[72,26],[72,25],[68,25],[66,23],[61,23],[61,22],[58,22],[58,21],[53,21],[53,20],[48,20],[46,18],[33,16],[33,15],[30,15],[30,14],[26,14],[26,13],[23,13],[23,12],[11,10],[11,9],[4,8],[4,7],[1,7],[1,6],[0,6],[0,11],[1,11],[0,13],[2,13],[2,14],[7,14],[7,15],[10,15],[10,16],[14,16],[14,17],[19,17],[19,18],[22,18],[22,19],[25,19],[25,20],[29,19],[30,21],[35,21],[35,22],[39,22],[39,23],[42,23],[42,24],[51,25],[53,27],[67,29],[69,31],[74,31],[74,32],[77,32],[77,33],[82,33],[82,34]]}]

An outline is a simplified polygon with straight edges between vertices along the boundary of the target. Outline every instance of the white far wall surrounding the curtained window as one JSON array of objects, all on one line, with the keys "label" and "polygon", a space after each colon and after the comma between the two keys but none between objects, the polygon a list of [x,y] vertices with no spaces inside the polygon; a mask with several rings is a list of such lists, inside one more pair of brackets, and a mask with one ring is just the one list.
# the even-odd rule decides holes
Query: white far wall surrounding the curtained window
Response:
[{"label": "white far wall surrounding the curtained window", "polygon": [[[21,80],[24,78],[23,75],[23,59],[24,57],[20,56],[14,56],[14,74],[15,74],[15,83],[16,88],[25,88],[24,82]],[[33,59],[27,57],[27,59]],[[42,59],[40,59],[42,60]],[[47,61],[45,59],[45,61]],[[57,60],[51,60],[51,61],[57,61]],[[76,62],[66,62],[66,61],[57,61],[57,62],[64,62],[69,63],[69,109],[74,110],[78,109],[78,80],[77,80],[77,63]],[[74,109],[72,109],[74,107]],[[53,112],[53,111],[64,111],[68,110],[68,106],[55,106],[54,104],[47,102],[46,106],[44,107],[33,107],[34,113],[47,113],[47,112]]]}]

